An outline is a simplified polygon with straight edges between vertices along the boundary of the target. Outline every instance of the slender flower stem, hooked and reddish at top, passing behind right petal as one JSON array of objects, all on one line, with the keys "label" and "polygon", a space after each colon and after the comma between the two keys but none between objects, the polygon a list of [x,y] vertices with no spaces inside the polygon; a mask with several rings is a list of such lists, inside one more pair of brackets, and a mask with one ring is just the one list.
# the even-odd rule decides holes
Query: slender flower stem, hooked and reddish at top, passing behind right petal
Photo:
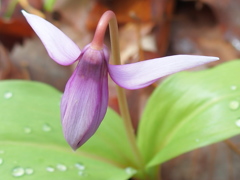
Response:
[{"label": "slender flower stem, hooked and reddish at top, passing behind right petal", "polygon": [[[91,42],[91,47],[95,49],[102,49],[104,42],[104,34],[106,32],[106,28],[109,25],[110,29],[110,39],[111,39],[111,50],[112,57],[115,65],[121,64],[120,61],[120,51],[119,51],[119,39],[118,39],[118,24],[115,14],[112,11],[106,11],[97,26],[95,35],[93,37],[93,41]],[[126,99],[125,90],[119,86],[117,86],[117,94],[118,94],[118,103],[120,108],[120,113],[124,121],[125,130],[127,133],[127,137],[129,143],[131,145],[133,154],[135,156],[135,160],[137,162],[138,168],[143,169],[144,164],[136,143],[136,136],[134,134],[128,104]]]}]

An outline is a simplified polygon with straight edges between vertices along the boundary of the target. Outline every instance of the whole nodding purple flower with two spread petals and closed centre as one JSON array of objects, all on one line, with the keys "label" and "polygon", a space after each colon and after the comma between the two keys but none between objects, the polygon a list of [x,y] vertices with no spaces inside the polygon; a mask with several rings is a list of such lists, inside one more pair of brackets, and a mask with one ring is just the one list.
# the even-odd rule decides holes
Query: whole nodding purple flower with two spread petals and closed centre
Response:
[{"label": "whole nodding purple flower with two spread petals and closed centre", "polygon": [[96,132],[105,116],[108,105],[108,73],[117,85],[126,89],[139,89],[163,76],[218,60],[208,56],[175,55],[132,64],[111,65],[105,45],[88,44],[81,51],[51,23],[25,11],[22,13],[54,61],[61,65],[78,61],[61,100],[63,133],[74,150]]}]

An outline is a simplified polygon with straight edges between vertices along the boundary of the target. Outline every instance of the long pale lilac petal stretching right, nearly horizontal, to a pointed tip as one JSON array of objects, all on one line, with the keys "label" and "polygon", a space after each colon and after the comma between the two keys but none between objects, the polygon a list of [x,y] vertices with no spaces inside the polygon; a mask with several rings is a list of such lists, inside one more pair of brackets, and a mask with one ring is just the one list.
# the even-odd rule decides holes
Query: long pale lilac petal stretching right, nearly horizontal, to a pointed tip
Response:
[{"label": "long pale lilac petal stretching right, nearly horizontal, to a pointed tip", "polygon": [[157,79],[218,60],[217,57],[175,55],[125,65],[108,65],[111,78],[126,89],[146,87]]}]

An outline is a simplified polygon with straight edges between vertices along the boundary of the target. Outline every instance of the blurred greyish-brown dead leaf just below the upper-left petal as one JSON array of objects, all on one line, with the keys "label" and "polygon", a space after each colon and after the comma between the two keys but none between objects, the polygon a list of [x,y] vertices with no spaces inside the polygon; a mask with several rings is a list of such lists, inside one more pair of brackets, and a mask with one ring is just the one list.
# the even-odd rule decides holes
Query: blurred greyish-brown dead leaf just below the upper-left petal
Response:
[{"label": "blurred greyish-brown dead leaf just below the upper-left petal", "polygon": [[48,83],[63,90],[72,70],[51,60],[42,44],[34,37],[25,40],[22,46],[16,45],[10,55],[18,69],[25,69],[31,80]]}]

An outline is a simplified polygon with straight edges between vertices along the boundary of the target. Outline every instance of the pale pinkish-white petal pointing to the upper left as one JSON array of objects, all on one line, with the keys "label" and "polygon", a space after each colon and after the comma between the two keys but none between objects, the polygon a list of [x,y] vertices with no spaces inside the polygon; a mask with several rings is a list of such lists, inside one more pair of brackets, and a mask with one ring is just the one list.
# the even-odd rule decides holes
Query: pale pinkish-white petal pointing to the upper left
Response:
[{"label": "pale pinkish-white petal pointing to the upper left", "polygon": [[78,59],[81,50],[61,30],[36,15],[25,11],[22,13],[54,61],[61,65],[69,65]]}]

